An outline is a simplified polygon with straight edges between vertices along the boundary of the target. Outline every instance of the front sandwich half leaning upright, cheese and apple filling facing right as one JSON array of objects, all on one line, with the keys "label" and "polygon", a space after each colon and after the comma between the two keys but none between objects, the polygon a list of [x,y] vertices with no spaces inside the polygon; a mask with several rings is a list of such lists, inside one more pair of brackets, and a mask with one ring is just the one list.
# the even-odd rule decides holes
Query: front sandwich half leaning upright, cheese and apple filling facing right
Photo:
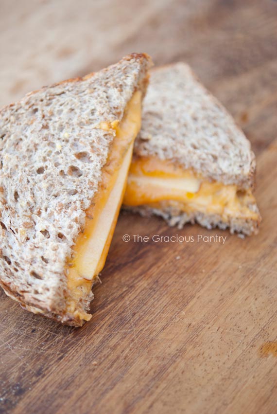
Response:
[{"label": "front sandwich half leaning upright, cheese and apple filling facing right", "polygon": [[0,110],[0,285],[31,312],[91,318],[150,66],[131,54]]}]

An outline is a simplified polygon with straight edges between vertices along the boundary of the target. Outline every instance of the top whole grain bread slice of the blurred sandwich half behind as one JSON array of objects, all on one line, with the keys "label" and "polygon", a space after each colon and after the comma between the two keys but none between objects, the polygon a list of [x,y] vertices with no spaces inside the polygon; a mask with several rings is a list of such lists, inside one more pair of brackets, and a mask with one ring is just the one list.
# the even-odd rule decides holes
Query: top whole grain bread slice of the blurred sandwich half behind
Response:
[{"label": "top whole grain bread slice of the blurred sandwich half behind", "polygon": [[241,189],[254,185],[249,141],[185,63],[151,71],[134,154],[170,159]]}]

